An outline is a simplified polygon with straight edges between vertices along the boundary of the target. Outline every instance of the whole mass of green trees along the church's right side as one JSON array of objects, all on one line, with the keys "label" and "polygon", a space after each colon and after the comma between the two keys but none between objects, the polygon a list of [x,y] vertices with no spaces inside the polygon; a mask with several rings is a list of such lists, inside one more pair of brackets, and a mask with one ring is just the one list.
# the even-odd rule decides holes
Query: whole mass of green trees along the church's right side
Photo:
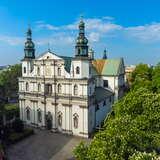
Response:
[{"label": "whole mass of green trees along the church's right side", "polygon": [[[140,64],[131,90],[114,104],[90,145],[74,150],[78,160],[154,160],[160,154],[160,66]],[[154,89],[154,90],[153,90]]]}]

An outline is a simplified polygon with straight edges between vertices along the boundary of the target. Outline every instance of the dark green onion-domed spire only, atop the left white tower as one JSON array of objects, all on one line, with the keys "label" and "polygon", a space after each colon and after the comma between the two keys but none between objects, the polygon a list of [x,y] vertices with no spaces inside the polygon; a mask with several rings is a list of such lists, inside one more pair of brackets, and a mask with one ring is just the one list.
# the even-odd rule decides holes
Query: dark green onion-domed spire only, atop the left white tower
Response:
[{"label": "dark green onion-domed spire only, atop the left white tower", "polygon": [[24,47],[24,59],[34,59],[35,58],[35,49],[34,49],[34,43],[32,42],[32,31],[30,28],[27,30],[27,40],[25,42]]}]

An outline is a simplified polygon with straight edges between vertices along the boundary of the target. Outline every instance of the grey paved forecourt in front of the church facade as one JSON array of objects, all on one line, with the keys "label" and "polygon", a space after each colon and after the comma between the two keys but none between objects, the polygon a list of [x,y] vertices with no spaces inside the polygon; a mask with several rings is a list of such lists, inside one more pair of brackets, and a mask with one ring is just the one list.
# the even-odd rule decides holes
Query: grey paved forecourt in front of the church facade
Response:
[{"label": "grey paved forecourt in front of the church facade", "polygon": [[71,160],[73,148],[87,139],[36,130],[28,137],[7,149],[9,160]]}]

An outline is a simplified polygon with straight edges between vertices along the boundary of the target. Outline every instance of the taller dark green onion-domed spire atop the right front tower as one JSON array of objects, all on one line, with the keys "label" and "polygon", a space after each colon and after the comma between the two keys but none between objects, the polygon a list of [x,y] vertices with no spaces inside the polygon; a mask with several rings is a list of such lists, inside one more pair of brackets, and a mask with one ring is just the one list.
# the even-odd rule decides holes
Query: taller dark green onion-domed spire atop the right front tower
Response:
[{"label": "taller dark green onion-domed spire atop the right front tower", "polygon": [[79,35],[76,42],[76,57],[88,57],[88,39],[85,37],[85,23],[81,19],[79,22]]}]

